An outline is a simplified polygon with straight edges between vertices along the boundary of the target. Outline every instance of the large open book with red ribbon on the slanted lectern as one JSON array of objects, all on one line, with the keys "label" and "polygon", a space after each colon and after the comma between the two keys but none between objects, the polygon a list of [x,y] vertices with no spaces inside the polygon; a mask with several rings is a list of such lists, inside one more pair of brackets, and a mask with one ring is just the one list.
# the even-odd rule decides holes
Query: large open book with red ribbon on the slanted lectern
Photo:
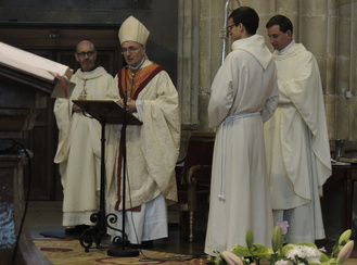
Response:
[{"label": "large open book with red ribbon on the slanted lectern", "polygon": [[55,84],[56,98],[68,98],[75,87],[73,71],[64,65],[0,41],[0,64]]}]

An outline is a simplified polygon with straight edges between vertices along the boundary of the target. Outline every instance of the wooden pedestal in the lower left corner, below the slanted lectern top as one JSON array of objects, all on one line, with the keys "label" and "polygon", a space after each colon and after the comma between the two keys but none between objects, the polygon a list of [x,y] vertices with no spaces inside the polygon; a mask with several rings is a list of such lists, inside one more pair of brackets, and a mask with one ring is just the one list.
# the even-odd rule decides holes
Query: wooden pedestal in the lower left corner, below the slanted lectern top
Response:
[{"label": "wooden pedestal in the lower left corner, below the slanted lectern top", "polygon": [[50,265],[52,263],[34,244],[27,227],[20,229],[24,214],[23,168],[27,162],[23,153],[0,154],[0,264]]}]

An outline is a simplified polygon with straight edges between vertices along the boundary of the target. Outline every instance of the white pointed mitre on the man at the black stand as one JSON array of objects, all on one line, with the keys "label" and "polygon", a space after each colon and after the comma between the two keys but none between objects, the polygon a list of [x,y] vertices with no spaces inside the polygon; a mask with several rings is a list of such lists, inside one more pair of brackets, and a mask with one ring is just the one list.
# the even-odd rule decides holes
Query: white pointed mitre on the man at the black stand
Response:
[{"label": "white pointed mitre on the man at the black stand", "polygon": [[120,45],[125,41],[136,41],[140,45],[146,45],[150,31],[133,16],[129,16],[120,26]]}]

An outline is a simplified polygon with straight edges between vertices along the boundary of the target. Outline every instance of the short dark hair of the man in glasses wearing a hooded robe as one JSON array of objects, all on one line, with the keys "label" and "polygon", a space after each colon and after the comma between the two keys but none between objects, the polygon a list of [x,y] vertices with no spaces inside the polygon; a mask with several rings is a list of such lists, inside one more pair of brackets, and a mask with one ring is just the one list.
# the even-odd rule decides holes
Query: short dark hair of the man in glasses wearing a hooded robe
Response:
[{"label": "short dark hair of the man in glasses wearing a hooded robe", "polygon": [[242,23],[245,30],[251,35],[254,35],[259,26],[259,16],[250,7],[240,7],[233,10],[228,18],[232,18],[235,26]]}]

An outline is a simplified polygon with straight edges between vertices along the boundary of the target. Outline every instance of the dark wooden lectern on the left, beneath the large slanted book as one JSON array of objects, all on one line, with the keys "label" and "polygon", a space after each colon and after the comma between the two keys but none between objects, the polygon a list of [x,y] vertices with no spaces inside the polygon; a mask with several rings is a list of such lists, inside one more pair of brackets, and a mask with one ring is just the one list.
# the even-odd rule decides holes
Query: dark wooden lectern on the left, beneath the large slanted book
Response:
[{"label": "dark wooden lectern on the left, beneath the large slanted book", "polygon": [[[50,265],[22,222],[25,212],[24,165],[28,157],[16,141],[27,138],[55,81],[0,64],[0,258],[1,264]],[[17,146],[18,147],[18,146]],[[34,154],[36,155],[36,154]]]}]

